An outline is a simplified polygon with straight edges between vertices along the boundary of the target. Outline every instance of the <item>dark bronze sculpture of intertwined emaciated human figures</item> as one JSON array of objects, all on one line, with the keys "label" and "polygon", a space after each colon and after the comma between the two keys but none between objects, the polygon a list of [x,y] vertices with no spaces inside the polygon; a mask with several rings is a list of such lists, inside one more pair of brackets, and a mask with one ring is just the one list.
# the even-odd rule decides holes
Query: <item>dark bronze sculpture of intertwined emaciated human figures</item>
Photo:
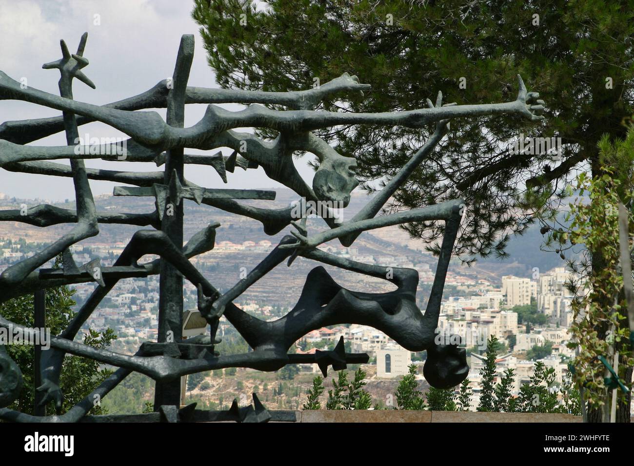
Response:
[{"label": "dark bronze sculpture of intertwined emaciated human figures", "polygon": [[[481,115],[517,115],[538,120],[543,112],[543,101],[538,94],[527,93],[518,75],[519,94],[508,103],[493,105],[443,105],[439,93],[436,104],[427,101],[429,108],[393,113],[322,112],[313,108],[322,100],[337,93],[363,93],[369,88],[356,76],[347,73],[333,81],[306,91],[259,92],[229,89],[206,89],[187,86],[193,60],[193,36],[181,39],[176,68],[172,80],[159,82],[143,94],[122,101],[98,106],[73,100],[72,80],[79,79],[94,88],[94,84],[81,71],[88,60],[84,58],[87,34],[81,38],[77,53],[71,54],[61,41],[63,57],[44,68],[60,70],[60,96],[37,89],[23,88],[19,82],[0,72],[0,100],[23,100],[55,108],[63,117],[36,120],[8,121],[0,126],[0,167],[8,171],[29,172],[73,179],[77,210],[60,209],[51,205],[38,205],[21,215],[18,210],[1,210],[0,221],[19,221],[46,227],[59,223],[75,223],[75,228],[61,236],[37,254],[7,268],[0,275],[0,302],[25,294],[32,294],[60,285],[97,282],[97,287],[83,304],[68,328],[51,339],[51,349],[44,353],[42,366],[43,403],[54,402],[59,408],[62,393],[59,387],[61,363],[65,354],[91,358],[119,367],[105,382],[81,403],[63,415],[36,417],[1,408],[8,406],[19,394],[22,376],[19,368],[0,346],[0,418],[18,422],[111,422],[117,420],[145,420],[182,422],[191,420],[238,420],[262,422],[292,420],[292,413],[264,409],[254,395],[254,406],[238,408],[234,403],[230,411],[197,411],[194,406],[179,409],[179,377],[207,370],[248,367],[263,371],[279,370],[287,364],[316,363],[325,374],[328,365],[339,370],[346,363],[368,360],[365,354],[347,354],[342,345],[334,351],[314,355],[287,354],[289,347],[311,330],[340,323],[359,323],[382,330],[401,346],[411,351],[427,350],[424,373],[436,387],[452,387],[462,381],[468,372],[465,351],[455,345],[434,344],[444,280],[451,251],[462,217],[463,201],[456,199],[422,209],[412,209],[378,216],[391,195],[425,158],[448,131],[450,119]],[[183,127],[184,108],[188,103],[209,104],[204,117],[192,127]],[[213,104],[249,104],[244,110],[230,112]],[[287,110],[271,110],[264,105],[275,104]],[[167,108],[165,122],[156,112],[141,112],[144,108]],[[77,127],[100,121],[127,134],[122,143],[77,150]],[[436,130],[420,150],[411,157],[401,171],[385,188],[368,202],[351,220],[337,223],[335,216],[322,215],[330,230],[308,235],[306,219],[294,219],[292,209],[262,209],[236,202],[236,199],[275,198],[274,191],[223,190],[197,186],[183,176],[184,164],[210,165],[226,182],[226,171],[233,172],[236,165],[243,169],[263,167],[271,179],[292,189],[305,200],[349,203],[351,191],[358,185],[353,169],[356,160],[343,157],[311,133],[311,130],[339,125],[381,124],[418,128],[436,122]],[[277,131],[273,141],[264,141],[254,134],[238,133],[237,127],[266,127]],[[65,131],[67,146],[29,146],[36,139]],[[235,152],[224,157],[215,155],[188,155],[184,148],[212,150],[221,147]],[[117,154],[124,150],[125,157]],[[311,152],[320,159],[320,167],[308,186],[292,163],[295,151]],[[70,167],[49,160],[70,159]],[[124,160],[126,162],[153,162],[165,165],[163,172],[123,172],[87,169],[85,159]],[[155,197],[156,210],[147,214],[98,212],[88,183],[100,179],[131,184],[136,187],[117,186],[114,195]],[[214,247],[218,223],[211,223],[193,235],[183,245],[183,199],[195,200],[241,216],[257,219],[268,235],[275,235],[292,224],[297,231],[281,240],[269,255],[243,280],[221,294],[191,264],[191,257]],[[299,220],[299,221],[297,221]],[[321,243],[338,238],[343,245],[351,245],[366,230],[413,221],[444,221],[445,235],[438,259],[436,276],[423,314],[416,306],[418,273],[413,269],[363,264],[334,256],[316,249]],[[98,235],[100,223],[151,226],[152,230],[137,231],[112,267],[101,267],[99,261],[77,266],[69,247],[81,240]],[[49,260],[63,254],[63,268],[39,269]],[[153,262],[138,264],[147,255],[160,256]],[[383,278],[394,283],[392,292],[370,294],[354,292],[337,285],[327,271],[318,266],[306,278],[299,301],[279,320],[266,322],[245,313],[233,301],[259,278],[280,262],[288,259],[288,266],[297,256],[347,269],[363,275]],[[98,271],[98,273],[95,273]],[[124,278],[145,277],[160,273],[159,342],[146,342],[134,355],[94,349],[74,338],[82,324],[91,316],[100,301]],[[198,309],[210,326],[211,337],[182,340],[183,278],[198,288]],[[219,318],[226,319],[249,343],[252,351],[246,354],[223,356],[214,351]],[[0,316],[0,327],[21,328]],[[22,329],[22,328],[21,328]],[[22,329],[25,332],[35,330]],[[155,413],[131,416],[86,416],[96,396],[103,397],[129,373],[136,371],[157,381]]]}]

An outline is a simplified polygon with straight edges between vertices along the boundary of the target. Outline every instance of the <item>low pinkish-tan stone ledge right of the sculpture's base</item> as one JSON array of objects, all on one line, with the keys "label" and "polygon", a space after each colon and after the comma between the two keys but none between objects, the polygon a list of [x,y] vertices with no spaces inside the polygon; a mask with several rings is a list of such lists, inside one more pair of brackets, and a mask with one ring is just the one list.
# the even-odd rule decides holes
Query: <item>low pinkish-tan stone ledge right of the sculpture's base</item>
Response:
[{"label": "low pinkish-tan stone ledge right of the sculpture's base", "polygon": [[581,422],[581,416],[470,411],[297,411],[297,422]]}]

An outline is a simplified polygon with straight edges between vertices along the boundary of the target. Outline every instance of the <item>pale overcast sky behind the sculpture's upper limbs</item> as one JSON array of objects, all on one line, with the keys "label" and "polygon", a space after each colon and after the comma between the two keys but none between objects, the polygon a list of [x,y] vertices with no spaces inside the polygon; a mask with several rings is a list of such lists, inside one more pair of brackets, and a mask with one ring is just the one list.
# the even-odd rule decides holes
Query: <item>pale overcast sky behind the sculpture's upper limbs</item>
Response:
[{"label": "pale overcast sky behind the sculpture's upper limbs", "polygon": [[[29,87],[59,94],[58,70],[43,70],[42,64],[61,58],[60,39],[71,52],[88,32],[84,56],[90,64],[86,75],[96,90],[74,81],[75,100],[103,105],[142,93],[157,82],[171,77],[182,34],[194,34],[196,50],[190,74],[190,86],[218,87],[214,72],[207,65],[198,25],[190,16],[188,0],[0,0],[0,70]],[[95,16],[99,15],[99,16]],[[95,24],[98,18],[100,25]],[[235,110],[236,107],[233,107]],[[198,122],[205,105],[188,105],[185,126]],[[165,111],[158,110],[165,118]],[[0,123],[60,115],[60,112],[22,101],[0,101]],[[79,134],[91,137],[124,136],[112,127],[91,123],[79,127]],[[65,145],[63,133],[30,143]],[[187,150],[188,153],[201,151]],[[231,151],[224,149],[226,155]],[[313,171],[309,157],[295,162],[307,181]],[[68,163],[67,160],[56,160]],[[87,167],[126,171],[155,171],[153,164],[87,160]],[[242,169],[228,173],[224,184],[212,167],[186,167],[186,178],[207,188],[275,188],[281,184],[268,179],[264,171]],[[91,181],[94,195],[112,193],[115,183]],[[21,174],[0,169],[0,192],[19,198],[63,200],[74,198],[72,179]]]}]

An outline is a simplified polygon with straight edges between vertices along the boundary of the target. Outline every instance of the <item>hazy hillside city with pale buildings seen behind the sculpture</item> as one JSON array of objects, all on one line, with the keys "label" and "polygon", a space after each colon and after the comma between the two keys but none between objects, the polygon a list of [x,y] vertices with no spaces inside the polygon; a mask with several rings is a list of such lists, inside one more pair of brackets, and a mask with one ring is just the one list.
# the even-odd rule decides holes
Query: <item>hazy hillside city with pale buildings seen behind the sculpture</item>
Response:
[{"label": "hazy hillside city with pale buildings seen behind the sculpture", "polygon": [[[353,216],[366,199],[357,193],[345,213]],[[290,204],[292,192],[278,190],[276,204]],[[40,204],[42,200],[37,200]],[[50,200],[44,200],[53,204]],[[117,209],[120,199],[102,195],[96,202],[103,209]],[[34,205],[34,200],[21,200],[0,193],[0,209],[15,209],[20,205]],[[68,200],[62,204],[72,204]],[[126,210],[143,211],[148,205],[143,200],[134,200],[131,205],[126,200]],[[275,236],[266,236],[261,227],[250,219],[233,216],[227,212],[199,209],[197,205],[186,205],[188,217],[195,219],[190,228],[193,231],[210,221],[219,221],[214,249],[197,256],[193,262],[212,283],[221,290],[230,288],[240,279],[240,274],[249,271],[261,261],[277,244],[282,231]],[[204,213],[203,213],[204,212]],[[319,228],[318,219],[310,219],[309,226]],[[68,226],[56,226],[46,230],[24,224],[4,223],[0,231],[0,272],[11,264],[31,256],[42,245]],[[102,227],[102,235],[90,238],[72,247],[77,264],[85,264],[100,259],[103,266],[111,266],[125,247],[133,227]],[[47,236],[47,235],[52,235]],[[186,231],[186,237],[188,231]],[[539,252],[540,235],[526,235],[515,241],[522,249]],[[247,239],[254,238],[254,239]],[[425,309],[427,295],[434,279],[436,258],[429,252],[417,249],[420,242],[396,227],[383,228],[359,237],[354,247],[342,247],[337,242],[325,243],[320,249],[355,261],[381,266],[413,268],[418,271],[420,283],[417,293],[418,306]],[[511,250],[513,250],[511,245]],[[471,409],[479,404],[481,391],[480,371],[484,365],[484,350],[490,335],[501,342],[501,351],[496,359],[498,382],[505,370],[514,369],[515,381],[512,394],[518,394],[522,384],[529,382],[536,362],[541,361],[555,371],[555,384],[562,384],[567,377],[567,361],[574,357],[569,349],[568,327],[572,321],[571,300],[565,284],[569,272],[563,261],[553,259],[552,254],[529,254],[534,263],[518,262],[510,257],[506,261],[491,260],[477,266],[467,267],[453,259],[447,275],[446,286],[437,329],[439,339],[449,339],[459,335],[462,346],[467,349],[470,366],[469,382],[472,389]],[[545,259],[547,257],[547,259]],[[143,262],[155,259],[146,256]],[[559,266],[553,266],[559,264]],[[538,266],[536,266],[538,265]],[[44,266],[51,267],[53,264]],[[316,263],[298,258],[292,268],[279,266],[261,282],[256,283],[235,304],[244,311],[263,320],[275,320],[286,314],[294,306],[304,285],[304,278]],[[341,269],[328,268],[333,278],[344,287],[367,292],[385,292],[393,285],[384,280],[368,279]],[[514,272],[514,273],[509,273]],[[508,275],[506,275],[508,273]],[[73,285],[75,289],[75,309],[87,299],[95,287],[94,283]],[[112,328],[118,338],[113,350],[134,353],[144,341],[157,339],[157,318],[159,301],[159,276],[142,279],[121,280],[104,299],[91,319],[84,325],[85,330],[105,331]],[[196,309],[197,291],[189,282],[184,282],[184,309]],[[223,318],[218,335],[223,342],[217,351],[230,354],[243,352],[248,345]],[[81,338],[81,335],[77,337]],[[320,328],[307,333],[295,342],[290,351],[314,353],[317,350],[333,349],[340,339],[344,340],[346,351],[367,353],[370,362],[363,365],[367,373],[366,390],[379,406],[390,406],[396,385],[408,373],[411,363],[419,366],[417,379],[419,389],[425,391],[429,385],[422,375],[425,353],[411,353],[400,347],[385,333],[363,325],[339,325]],[[349,369],[354,370],[355,367]],[[246,399],[250,392],[259,392],[261,398],[276,403],[280,409],[298,409],[304,403],[306,391],[320,370],[316,365],[286,366],[275,373],[261,373],[246,368],[216,370],[190,377],[187,384],[186,400],[197,401],[210,408],[226,408],[234,398]],[[336,374],[330,370],[325,385]],[[152,380],[134,374],[131,382],[122,384],[106,401],[113,413],[134,410],[134,404],[151,401]],[[456,391],[458,387],[456,387]],[[132,397],[132,398],[131,398]],[[138,407],[136,408],[138,409]]]}]

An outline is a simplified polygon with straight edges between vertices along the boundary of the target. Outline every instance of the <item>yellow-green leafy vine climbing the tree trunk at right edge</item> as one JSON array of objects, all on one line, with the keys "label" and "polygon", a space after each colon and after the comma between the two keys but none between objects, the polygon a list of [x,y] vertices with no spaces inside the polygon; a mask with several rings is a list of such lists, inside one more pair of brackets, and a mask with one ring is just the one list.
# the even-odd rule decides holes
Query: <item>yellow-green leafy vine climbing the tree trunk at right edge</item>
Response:
[{"label": "yellow-green leafy vine climbing the tree trunk at right edge", "polygon": [[[634,159],[634,127],[630,127],[624,141],[609,141],[604,137],[599,143],[604,165],[603,176],[588,178],[580,174],[576,188],[579,195],[587,195],[590,202],[579,200],[571,207],[570,241],[585,244],[585,256],[579,262],[569,262],[578,273],[578,280],[567,283],[577,297],[571,303],[574,321],[570,332],[571,347],[578,347],[574,359],[574,382],[585,387],[584,394],[590,408],[605,406],[608,391],[602,376],[604,367],[597,356],[607,356],[611,348],[619,351],[619,375],[634,363],[628,339],[630,330],[626,319],[626,302],[623,295],[623,276],[619,267],[618,205],[628,205],[630,232],[634,231],[631,205],[634,194],[632,159]],[[612,163],[619,167],[616,172]],[[624,167],[629,167],[625,169]],[[630,244],[631,248],[631,244]],[[608,336],[609,335],[609,336]],[[629,380],[626,383],[629,384]],[[626,403],[625,395],[621,402]]]}]

